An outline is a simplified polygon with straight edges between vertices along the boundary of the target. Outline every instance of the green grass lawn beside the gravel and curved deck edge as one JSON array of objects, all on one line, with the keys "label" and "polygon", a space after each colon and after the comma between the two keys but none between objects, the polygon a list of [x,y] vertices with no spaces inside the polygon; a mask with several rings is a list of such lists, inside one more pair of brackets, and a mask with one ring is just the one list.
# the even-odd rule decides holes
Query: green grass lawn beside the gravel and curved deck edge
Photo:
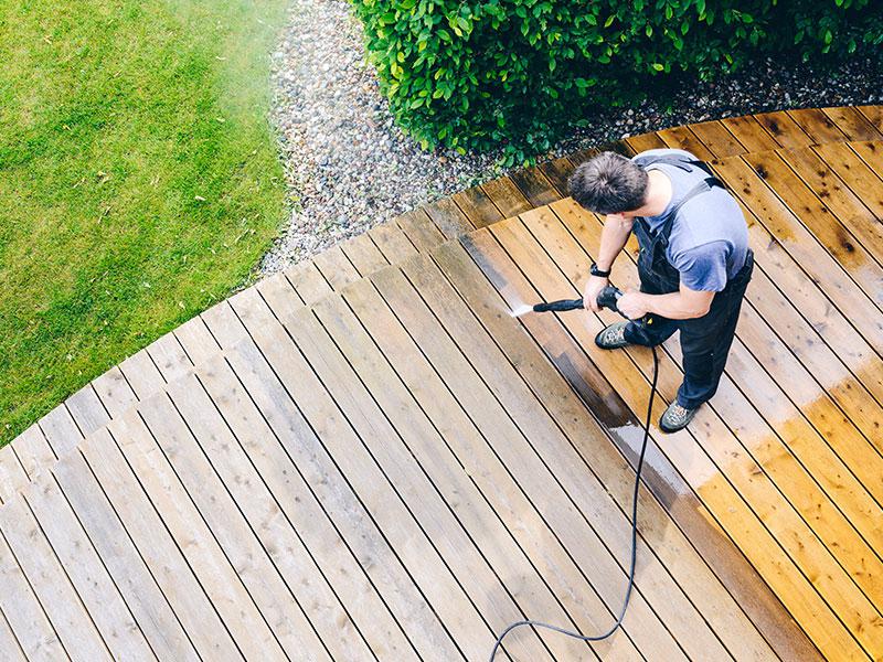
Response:
[{"label": "green grass lawn beside the gravel and curved deck edge", "polygon": [[248,280],[283,0],[0,0],[0,445]]}]

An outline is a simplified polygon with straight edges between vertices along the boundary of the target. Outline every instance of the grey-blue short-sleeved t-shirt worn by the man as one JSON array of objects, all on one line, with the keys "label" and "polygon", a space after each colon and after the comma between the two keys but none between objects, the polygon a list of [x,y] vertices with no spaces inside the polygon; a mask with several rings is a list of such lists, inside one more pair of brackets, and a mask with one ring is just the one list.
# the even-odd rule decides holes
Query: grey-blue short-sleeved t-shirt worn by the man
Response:
[{"label": "grey-blue short-sleeved t-shirt worn by the man", "polygon": [[[685,156],[681,149],[650,149],[636,157]],[[655,163],[671,180],[671,202],[659,216],[648,216],[651,232],[666,222],[666,215],[687,193],[709,174],[694,168],[685,172],[674,166]],[[724,189],[713,188],[688,201],[674,216],[666,253],[669,263],[681,274],[681,282],[691,290],[721,291],[745,264],[748,226],[734,197]]]}]

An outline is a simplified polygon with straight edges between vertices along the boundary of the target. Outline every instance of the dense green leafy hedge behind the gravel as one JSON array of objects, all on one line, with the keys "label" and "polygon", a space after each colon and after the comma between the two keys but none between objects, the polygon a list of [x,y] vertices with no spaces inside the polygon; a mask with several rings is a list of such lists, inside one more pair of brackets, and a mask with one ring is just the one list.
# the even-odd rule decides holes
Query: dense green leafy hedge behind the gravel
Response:
[{"label": "dense green leafy hedge behind the gravel", "polygon": [[836,61],[883,42],[881,0],[353,0],[400,125],[424,149],[546,150],[591,109],[759,53]]}]

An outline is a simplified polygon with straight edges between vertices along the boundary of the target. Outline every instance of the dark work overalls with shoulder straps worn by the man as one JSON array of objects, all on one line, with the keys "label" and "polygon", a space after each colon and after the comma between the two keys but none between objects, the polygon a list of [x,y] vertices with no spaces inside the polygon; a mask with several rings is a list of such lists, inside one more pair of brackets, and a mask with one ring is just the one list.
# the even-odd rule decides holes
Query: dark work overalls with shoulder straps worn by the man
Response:
[{"label": "dark work overalls with shoulder straps worn by the man", "polygon": [[[667,163],[689,170],[687,163],[702,168],[708,172],[704,163],[700,161],[685,161],[677,157],[657,157],[645,161],[643,166],[651,163]],[[674,216],[689,200],[723,184],[714,177],[709,177],[698,186],[692,189],[669,212],[666,222],[656,233],[650,231],[646,218],[635,218],[635,232],[640,246],[638,257],[638,276],[641,281],[641,291],[649,295],[667,295],[680,289],[681,277],[678,269],[671,266],[666,250],[669,236],[674,223]],[[625,338],[631,343],[646,346],[661,344],[674,331],[681,331],[681,353],[683,354],[683,383],[678,389],[678,404],[688,409],[693,409],[710,399],[717,391],[717,384],[724,372],[726,356],[733,344],[736,333],[742,299],[752,278],[754,254],[751,248],[745,258],[745,265],[731,278],[726,287],[714,295],[711,309],[701,318],[689,320],[670,320],[657,314],[650,316],[650,323],[637,324],[631,322],[626,327]]]}]

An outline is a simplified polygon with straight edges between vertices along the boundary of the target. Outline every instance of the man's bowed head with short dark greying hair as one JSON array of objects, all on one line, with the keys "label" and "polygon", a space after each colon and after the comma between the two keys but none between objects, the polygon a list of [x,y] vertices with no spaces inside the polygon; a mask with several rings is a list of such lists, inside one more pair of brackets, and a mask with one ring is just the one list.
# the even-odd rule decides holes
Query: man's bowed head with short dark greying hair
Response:
[{"label": "man's bowed head with short dark greying hair", "polygon": [[630,159],[602,152],[581,163],[567,185],[571,196],[597,214],[619,214],[643,206],[649,178]]}]

